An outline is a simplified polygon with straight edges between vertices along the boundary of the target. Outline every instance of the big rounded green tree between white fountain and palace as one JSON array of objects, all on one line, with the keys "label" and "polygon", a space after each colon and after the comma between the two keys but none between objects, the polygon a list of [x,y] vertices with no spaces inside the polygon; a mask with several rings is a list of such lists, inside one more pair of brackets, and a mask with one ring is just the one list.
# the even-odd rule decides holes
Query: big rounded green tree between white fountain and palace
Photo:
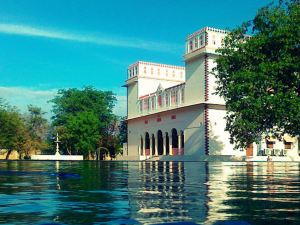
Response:
[{"label": "big rounded green tree between white fountain and palace", "polygon": [[93,87],[61,89],[52,100],[53,125],[61,138],[61,147],[68,154],[90,157],[105,136],[114,118],[115,96],[110,91]]}]

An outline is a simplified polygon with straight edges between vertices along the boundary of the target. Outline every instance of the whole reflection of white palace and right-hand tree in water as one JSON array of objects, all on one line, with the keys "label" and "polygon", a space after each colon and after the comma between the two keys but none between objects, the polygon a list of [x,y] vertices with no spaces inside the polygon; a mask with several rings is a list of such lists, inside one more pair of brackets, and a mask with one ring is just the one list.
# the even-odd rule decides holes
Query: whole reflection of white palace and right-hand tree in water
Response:
[{"label": "whole reflection of white palace and right-hand tree in water", "polygon": [[131,218],[142,224],[299,220],[298,163],[142,162],[128,169]]}]

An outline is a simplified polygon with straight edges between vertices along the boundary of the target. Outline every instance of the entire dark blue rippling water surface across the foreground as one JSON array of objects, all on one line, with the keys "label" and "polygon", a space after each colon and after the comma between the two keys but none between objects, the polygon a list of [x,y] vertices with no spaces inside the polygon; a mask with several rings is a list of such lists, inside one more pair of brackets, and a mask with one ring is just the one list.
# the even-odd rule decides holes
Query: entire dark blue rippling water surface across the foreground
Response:
[{"label": "entire dark blue rippling water surface across the foreground", "polygon": [[299,166],[1,161],[0,223],[300,224]]}]

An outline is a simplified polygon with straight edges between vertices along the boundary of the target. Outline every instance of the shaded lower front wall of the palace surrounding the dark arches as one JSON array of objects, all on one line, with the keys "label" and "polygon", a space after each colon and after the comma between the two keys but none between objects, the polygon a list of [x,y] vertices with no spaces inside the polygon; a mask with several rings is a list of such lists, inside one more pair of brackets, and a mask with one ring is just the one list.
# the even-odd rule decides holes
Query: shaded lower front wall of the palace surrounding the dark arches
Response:
[{"label": "shaded lower front wall of the palace surrounding the dark arches", "polygon": [[[176,115],[172,120],[171,116]],[[157,122],[157,115],[145,116],[143,118],[128,121],[128,152],[129,155],[137,155],[141,136],[145,137],[148,132],[150,137],[156,135],[158,130],[163,134],[168,132],[171,136],[172,128],[184,131],[185,155],[204,155],[204,117],[203,106],[186,107],[170,110],[160,114],[161,122]],[[148,124],[145,124],[145,120]],[[171,138],[170,138],[171,141]]]}]

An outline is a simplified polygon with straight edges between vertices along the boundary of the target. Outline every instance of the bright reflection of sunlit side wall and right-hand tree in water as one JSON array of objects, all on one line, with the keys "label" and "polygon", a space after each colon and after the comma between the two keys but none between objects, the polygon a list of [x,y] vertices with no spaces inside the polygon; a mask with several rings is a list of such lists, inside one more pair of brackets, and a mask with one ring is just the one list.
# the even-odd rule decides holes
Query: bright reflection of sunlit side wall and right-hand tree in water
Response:
[{"label": "bright reflection of sunlit side wall and right-hand tree in water", "polygon": [[219,220],[298,224],[299,163],[209,165],[209,210],[204,224]]}]

